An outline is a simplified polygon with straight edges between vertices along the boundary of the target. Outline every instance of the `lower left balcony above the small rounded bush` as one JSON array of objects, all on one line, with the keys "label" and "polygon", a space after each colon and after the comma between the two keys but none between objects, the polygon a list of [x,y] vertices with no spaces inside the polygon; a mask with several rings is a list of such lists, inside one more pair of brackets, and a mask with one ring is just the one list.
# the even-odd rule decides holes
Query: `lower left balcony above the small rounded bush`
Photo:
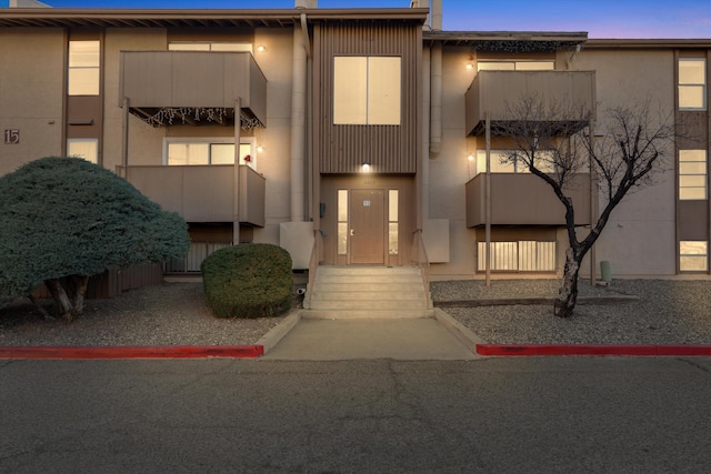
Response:
[{"label": "lower left balcony above the small rounded bush", "polygon": [[[122,170],[119,170],[122,171]],[[129,167],[126,179],[151,201],[179,213],[187,222],[234,222],[264,226],[264,178],[239,167],[239,196],[234,196],[234,167]]]}]

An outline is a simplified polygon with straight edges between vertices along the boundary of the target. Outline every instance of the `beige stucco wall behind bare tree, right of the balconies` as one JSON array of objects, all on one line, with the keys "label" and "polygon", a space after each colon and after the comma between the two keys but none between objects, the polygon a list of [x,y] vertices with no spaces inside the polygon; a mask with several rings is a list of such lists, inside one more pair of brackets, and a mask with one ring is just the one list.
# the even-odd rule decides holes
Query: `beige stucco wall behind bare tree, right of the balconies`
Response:
[{"label": "beige stucco wall behind bare tree, right of the balconies", "polygon": [[[595,70],[598,133],[604,133],[604,111],[652,99],[674,111],[674,57],[667,51],[583,51],[575,69]],[[674,151],[667,150],[667,172],[649,189],[629,194],[612,212],[598,245],[597,260],[612,263],[613,275],[671,275],[677,271]],[[605,204],[601,196],[600,209]]]}]

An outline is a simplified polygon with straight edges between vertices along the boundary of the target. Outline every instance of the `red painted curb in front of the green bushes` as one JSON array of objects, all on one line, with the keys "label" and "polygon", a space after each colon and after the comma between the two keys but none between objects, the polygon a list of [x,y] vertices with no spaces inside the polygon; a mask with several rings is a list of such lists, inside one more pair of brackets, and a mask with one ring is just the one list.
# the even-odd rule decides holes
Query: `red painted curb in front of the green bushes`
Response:
[{"label": "red painted curb in front of the green bushes", "polygon": [[263,345],[170,345],[160,347],[0,347],[0,359],[254,359],[264,355]]}]

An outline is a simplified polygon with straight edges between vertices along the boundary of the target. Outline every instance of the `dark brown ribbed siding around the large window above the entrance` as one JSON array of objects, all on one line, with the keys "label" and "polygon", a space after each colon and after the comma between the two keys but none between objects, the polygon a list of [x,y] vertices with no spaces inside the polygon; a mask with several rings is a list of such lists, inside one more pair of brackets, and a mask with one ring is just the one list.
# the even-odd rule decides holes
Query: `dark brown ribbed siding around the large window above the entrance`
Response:
[{"label": "dark brown ribbed siding around the large window above the entrance", "polygon": [[[417,22],[339,22],[314,28],[314,155],[321,173],[414,173],[419,150],[422,28]],[[400,125],[333,124],[333,57],[402,59]]]}]

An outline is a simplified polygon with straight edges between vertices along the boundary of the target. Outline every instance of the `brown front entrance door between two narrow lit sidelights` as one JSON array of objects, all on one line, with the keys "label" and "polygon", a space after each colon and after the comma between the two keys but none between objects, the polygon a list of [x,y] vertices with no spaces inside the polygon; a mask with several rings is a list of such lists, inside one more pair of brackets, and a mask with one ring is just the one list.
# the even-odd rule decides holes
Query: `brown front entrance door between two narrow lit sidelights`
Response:
[{"label": "brown front entrance door between two narrow lit sidelights", "polygon": [[385,193],[351,190],[350,263],[383,264],[385,261]]}]

